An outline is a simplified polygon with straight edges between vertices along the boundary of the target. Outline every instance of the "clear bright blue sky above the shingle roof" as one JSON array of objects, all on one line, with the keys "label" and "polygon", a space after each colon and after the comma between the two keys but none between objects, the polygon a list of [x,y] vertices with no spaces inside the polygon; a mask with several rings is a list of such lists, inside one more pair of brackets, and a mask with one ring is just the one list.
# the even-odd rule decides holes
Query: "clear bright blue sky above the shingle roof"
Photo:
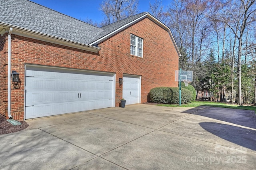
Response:
[{"label": "clear bright blue sky above the shingle roof", "polygon": [[[78,20],[92,19],[101,22],[104,18],[99,10],[103,0],[30,0],[62,14],[77,18]],[[154,4],[155,0],[139,0],[138,13],[148,12],[149,2]],[[163,6],[168,6],[172,0],[162,0]]]}]

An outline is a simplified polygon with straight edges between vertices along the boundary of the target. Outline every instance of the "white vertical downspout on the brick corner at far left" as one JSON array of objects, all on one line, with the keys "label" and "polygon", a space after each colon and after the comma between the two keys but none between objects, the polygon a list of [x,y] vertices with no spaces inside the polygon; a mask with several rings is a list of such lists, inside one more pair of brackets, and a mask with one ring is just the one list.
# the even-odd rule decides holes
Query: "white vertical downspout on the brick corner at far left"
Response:
[{"label": "white vertical downspout on the brick corner at far left", "polygon": [[11,35],[12,28],[10,28],[8,33],[8,117],[12,119],[11,115]]}]

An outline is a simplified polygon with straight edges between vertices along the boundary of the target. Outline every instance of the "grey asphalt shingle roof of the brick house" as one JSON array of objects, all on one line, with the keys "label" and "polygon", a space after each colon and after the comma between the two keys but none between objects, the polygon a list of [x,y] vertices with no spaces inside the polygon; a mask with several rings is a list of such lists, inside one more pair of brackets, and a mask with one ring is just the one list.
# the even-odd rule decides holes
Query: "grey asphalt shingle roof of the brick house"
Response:
[{"label": "grey asphalt shingle roof of the brick house", "polygon": [[29,0],[0,0],[0,24],[7,24],[86,45],[145,14],[147,13],[140,13],[98,28]]}]

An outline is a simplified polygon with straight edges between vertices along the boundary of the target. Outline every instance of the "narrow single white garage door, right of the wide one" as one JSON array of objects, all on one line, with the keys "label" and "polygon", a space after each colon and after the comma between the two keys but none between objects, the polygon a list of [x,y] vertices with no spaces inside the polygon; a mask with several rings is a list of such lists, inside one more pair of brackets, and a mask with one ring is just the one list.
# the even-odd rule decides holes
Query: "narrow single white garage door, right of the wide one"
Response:
[{"label": "narrow single white garage door, right of the wide one", "polygon": [[140,103],[140,77],[124,75],[123,79],[123,98],[126,99],[126,105]]}]

